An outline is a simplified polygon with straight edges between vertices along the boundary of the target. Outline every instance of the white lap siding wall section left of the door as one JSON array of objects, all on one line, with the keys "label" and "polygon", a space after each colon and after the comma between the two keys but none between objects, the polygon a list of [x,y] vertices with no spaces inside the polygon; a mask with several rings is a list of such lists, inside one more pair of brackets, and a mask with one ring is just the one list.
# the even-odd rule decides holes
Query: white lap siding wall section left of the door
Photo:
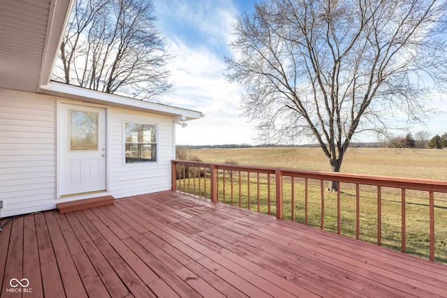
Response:
[{"label": "white lap siding wall section left of the door", "polygon": [[54,207],[55,131],[54,98],[0,90],[1,217]]}]

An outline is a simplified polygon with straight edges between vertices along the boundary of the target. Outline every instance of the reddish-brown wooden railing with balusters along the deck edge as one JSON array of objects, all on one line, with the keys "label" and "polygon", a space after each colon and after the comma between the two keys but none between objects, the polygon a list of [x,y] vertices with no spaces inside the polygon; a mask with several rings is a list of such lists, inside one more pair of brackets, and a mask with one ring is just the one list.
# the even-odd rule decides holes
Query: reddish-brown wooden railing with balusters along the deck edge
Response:
[{"label": "reddish-brown wooden railing with balusters along the deck edge", "polygon": [[[404,253],[407,234],[410,237],[414,234],[408,231],[412,226],[407,224],[407,219],[413,221],[417,217],[417,221],[427,222],[427,237],[420,241],[430,243],[430,260],[435,258],[436,247],[441,250],[440,253],[437,251],[441,262],[447,262],[447,181],[191,161],[172,161],[172,179],[172,188],[175,191],[209,198],[212,202],[225,202],[262,211],[275,215],[278,219],[285,217],[286,207],[286,218],[291,221],[319,226],[323,230],[332,230],[351,237],[355,233],[356,239],[360,239],[360,221],[363,221],[365,229],[370,230],[373,225],[376,228],[374,241],[366,240],[376,242],[379,246],[382,245],[383,234],[389,232],[387,229],[400,221],[397,233],[400,233],[400,250]],[[332,181],[337,182],[337,191],[328,191],[325,188],[325,183],[332,184]],[[353,197],[355,200],[352,200]],[[315,202],[319,206],[311,207]],[[367,206],[367,210],[360,211],[362,204]],[[388,206],[397,206],[400,211],[393,209],[391,213],[383,212],[383,207]],[[349,208],[353,209],[352,212]],[[423,208],[428,210],[424,211]],[[439,213],[437,216],[435,208]],[[344,216],[349,212],[355,215],[352,218]],[[420,212],[426,212],[427,216]],[[318,223],[314,218],[318,218]],[[386,227],[383,226],[383,218],[387,219]],[[349,228],[342,232],[342,222],[351,221],[351,234]],[[437,244],[435,222],[439,239]],[[386,244],[395,249],[397,245]]]}]

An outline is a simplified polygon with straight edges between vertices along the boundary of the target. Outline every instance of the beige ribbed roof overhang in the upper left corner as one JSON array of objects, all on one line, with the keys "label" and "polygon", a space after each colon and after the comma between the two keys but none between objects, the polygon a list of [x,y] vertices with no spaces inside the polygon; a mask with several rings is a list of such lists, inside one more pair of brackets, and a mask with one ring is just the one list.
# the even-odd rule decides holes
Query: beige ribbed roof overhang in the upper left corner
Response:
[{"label": "beige ribbed roof overhang in the upper left corner", "polygon": [[0,0],[0,88],[37,92],[49,80],[72,3]]}]

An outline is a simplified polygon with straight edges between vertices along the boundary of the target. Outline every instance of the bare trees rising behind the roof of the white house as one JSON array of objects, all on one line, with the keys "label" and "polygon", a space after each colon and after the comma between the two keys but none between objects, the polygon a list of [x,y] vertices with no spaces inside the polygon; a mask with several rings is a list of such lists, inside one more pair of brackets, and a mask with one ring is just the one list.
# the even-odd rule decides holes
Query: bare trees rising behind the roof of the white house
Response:
[{"label": "bare trees rising behind the roof of the white house", "polygon": [[78,0],[53,80],[156,100],[172,89],[152,0]]}]

